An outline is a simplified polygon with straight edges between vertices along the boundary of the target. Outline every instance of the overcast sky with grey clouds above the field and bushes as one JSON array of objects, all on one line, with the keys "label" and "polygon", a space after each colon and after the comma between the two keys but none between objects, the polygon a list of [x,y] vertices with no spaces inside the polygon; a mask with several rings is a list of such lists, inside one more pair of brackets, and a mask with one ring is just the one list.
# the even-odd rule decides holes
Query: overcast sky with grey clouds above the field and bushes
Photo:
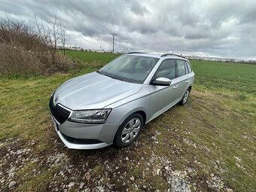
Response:
[{"label": "overcast sky with grey clouds above the field and bushes", "polygon": [[191,53],[256,59],[256,1],[0,0],[0,17],[56,17],[72,44],[118,51]]}]

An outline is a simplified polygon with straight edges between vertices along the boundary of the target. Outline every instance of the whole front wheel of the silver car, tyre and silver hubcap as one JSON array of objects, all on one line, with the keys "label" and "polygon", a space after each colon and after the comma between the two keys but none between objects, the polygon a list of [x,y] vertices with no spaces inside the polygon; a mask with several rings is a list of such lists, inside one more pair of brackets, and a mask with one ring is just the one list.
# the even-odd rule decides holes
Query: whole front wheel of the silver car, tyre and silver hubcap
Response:
[{"label": "whole front wheel of the silver car, tyre and silver hubcap", "polygon": [[125,148],[131,145],[139,136],[143,126],[143,117],[139,113],[131,114],[119,126],[114,137],[114,144],[118,148]]}]

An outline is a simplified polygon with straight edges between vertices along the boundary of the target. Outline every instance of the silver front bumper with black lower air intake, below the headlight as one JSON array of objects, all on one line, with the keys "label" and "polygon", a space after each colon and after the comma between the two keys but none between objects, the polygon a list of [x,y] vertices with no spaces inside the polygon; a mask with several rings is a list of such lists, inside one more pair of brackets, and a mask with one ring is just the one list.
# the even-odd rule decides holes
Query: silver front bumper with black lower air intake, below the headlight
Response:
[{"label": "silver front bumper with black lower air intake, below the headlight", "polygon": [[50,112],[56,133],[62,142],[73,149],[105,148],[113,143],[114,135],[119,125],[114,124],[84,124],[66,120],[59,123]]}]

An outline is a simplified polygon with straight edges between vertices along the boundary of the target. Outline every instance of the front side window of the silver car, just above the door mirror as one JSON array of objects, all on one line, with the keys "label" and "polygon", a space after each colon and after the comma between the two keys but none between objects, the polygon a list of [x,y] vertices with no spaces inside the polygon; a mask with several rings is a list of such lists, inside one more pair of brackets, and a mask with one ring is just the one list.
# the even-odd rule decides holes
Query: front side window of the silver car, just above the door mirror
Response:
[{"label": "front side window of the silver car, just above the door mirror", "polygon": [[175,78],[175,61],[174,59],[166,59],[164,60],[160,67],[157,69],[155,73],[155,78]]}]

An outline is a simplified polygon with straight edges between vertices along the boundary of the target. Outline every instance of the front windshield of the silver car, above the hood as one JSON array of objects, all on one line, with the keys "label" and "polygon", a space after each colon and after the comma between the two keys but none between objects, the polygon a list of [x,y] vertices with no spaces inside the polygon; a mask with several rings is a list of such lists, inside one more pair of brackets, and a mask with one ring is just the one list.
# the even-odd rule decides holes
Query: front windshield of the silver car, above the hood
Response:
[{"label": "front windshield of the silver car, above the hood", "polygon": [[159,59],[148,56],[123,55],[99,69],[99,73],[120,81],[143,84]]}]

